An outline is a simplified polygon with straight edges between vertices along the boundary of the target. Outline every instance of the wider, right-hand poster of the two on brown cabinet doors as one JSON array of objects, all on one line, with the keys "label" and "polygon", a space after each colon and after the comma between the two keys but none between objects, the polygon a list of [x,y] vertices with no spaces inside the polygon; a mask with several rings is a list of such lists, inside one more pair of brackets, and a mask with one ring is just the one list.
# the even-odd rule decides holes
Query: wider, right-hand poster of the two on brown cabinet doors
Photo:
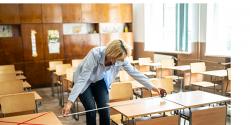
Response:
[{"label": "wider, right-hand poster of the two on brown cabinet doors", "polygon": [[60,53],[60,41],[58,30],[48,30],[49,53]]}]

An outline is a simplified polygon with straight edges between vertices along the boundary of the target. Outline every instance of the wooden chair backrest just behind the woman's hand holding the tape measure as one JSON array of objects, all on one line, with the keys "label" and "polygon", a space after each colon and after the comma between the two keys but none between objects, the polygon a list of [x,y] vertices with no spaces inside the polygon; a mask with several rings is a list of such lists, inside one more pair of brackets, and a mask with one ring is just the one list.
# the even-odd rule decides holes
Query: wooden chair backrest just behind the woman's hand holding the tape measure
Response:
[{"label": "wooden chair backrest just behind the woman's hand holding the tape measure", "polygon": [[172,78],[153,78],[150,81],[159,88],[164,89],[168,94],[174,91],[174,84]]}]

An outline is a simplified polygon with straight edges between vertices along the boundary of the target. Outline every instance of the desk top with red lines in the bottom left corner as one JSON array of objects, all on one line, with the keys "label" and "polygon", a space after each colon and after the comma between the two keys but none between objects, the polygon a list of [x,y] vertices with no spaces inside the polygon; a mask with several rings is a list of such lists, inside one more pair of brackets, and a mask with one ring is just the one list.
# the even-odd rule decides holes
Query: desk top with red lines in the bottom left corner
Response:
[{"label": "desk top with red lines in the bottom left corner", "polygon": [[53,112],[42,112],[37,114],[20,115],[14,117],[0,118],[1,125],[62,125]]}]

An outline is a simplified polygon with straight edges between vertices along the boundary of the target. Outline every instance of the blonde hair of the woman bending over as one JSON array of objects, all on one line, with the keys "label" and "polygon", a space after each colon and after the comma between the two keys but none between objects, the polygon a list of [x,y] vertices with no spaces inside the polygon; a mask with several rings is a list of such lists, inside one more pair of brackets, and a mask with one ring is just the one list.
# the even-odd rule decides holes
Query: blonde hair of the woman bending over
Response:
[{"label": "blonde hair of the woman bending over", "polygon": [[122,40],[111,41],[105,51],[105,56],[120,60],[124,60],[130,54],[130,48]]}]

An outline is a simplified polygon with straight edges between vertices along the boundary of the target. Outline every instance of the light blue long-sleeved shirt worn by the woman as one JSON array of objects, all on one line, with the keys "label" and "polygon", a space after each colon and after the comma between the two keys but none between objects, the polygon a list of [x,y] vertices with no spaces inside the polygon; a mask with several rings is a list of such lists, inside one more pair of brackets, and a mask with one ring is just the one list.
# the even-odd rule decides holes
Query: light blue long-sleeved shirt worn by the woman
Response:
[{"label": "light blue long-sleeved shirt worn by the woman", "polygon": [[69,95],[68,100],[74,102],[80,93],[83,93],[91,83],[95,83],[101,79],[106,82],[107,88],[110,89],[111,83],[116,75],[123,68],[139,83],[152,89],[149,79],[138,72],[128,60],[124,62],[116,61],[114,65],[105,66],[105,50],[106,47],[96,47],[90,50],[88,55],[78,65],[73,75],[74,86]]}]

